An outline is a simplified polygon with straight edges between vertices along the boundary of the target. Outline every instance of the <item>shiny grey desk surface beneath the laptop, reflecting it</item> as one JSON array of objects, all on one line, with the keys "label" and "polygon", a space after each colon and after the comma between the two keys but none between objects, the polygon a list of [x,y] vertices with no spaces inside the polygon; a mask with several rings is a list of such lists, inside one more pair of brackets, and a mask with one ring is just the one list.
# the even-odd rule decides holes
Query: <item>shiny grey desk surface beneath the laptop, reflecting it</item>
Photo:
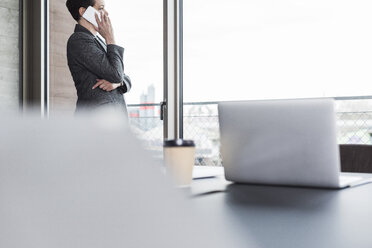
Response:
[{"label": "shiny grey desk surface beneath the laptop, reflecting it", "polygon": [[259,247],[372,247],[371,183],[328,190],[237,185],[220,176],[194,180],[190,194],[203,213]]}]

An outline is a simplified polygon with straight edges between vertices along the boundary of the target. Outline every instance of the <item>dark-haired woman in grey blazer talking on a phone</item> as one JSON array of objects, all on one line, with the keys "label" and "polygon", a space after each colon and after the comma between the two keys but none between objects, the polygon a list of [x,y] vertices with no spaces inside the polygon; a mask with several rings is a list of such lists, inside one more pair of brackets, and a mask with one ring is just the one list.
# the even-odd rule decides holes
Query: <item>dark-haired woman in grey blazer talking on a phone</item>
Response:
[{"label": "dark-haired woman in grey blazer talking on a phone", "polygon": [[[116,107],[126,113],[123,94],[130,90],[131,81],[124,73],[124,48],[115,44],[104,0],[67,0],[66,6],[78,22],[67,42],[68,66],[78,96],[76,112]],[[89,6],[100,12],[98,28],[82,17]]]}]

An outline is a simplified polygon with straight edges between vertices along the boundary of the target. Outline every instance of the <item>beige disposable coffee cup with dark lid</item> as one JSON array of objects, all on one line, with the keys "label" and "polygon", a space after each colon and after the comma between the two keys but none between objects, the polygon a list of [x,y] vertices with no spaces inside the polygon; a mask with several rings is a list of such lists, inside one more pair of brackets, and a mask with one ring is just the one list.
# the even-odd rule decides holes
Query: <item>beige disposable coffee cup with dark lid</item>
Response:
[{"label": "beige disposable coffee cup with dark lid", "polygon": [[177,186],[190,185],[195,161],[195,143],[192,140],[164,141],[164,161],[167,173]]}]

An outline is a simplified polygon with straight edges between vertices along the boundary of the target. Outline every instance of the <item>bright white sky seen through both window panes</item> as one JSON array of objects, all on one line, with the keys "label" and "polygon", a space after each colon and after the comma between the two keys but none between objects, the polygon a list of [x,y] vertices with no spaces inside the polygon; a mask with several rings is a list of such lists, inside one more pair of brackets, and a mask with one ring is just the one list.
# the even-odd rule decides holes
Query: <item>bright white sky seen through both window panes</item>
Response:
[{"label": "bright white sky seen through both window panes", "polygon": [[[161,0],[106,0],[133,81],[163,92]],[[372,1],[184,0],[184,99],[372,95]]]}]

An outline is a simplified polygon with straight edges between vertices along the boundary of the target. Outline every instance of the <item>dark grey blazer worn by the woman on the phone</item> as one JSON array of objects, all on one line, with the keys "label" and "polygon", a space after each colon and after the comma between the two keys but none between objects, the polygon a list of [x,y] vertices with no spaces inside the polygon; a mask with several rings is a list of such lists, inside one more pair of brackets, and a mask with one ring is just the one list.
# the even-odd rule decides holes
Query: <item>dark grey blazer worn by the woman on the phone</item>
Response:
[{"label": "dark grey blazer worn by the woman on the phone", "polygon": [[[88,29],[76,25],[67,42],[67,60],[78,96],[77,112],[102,106],[116,106],[126,112],[123,94],[130,90],[131,81],[124,74],[123,54],[124,48],[111,44],[106,46]],[[92,90],[96,79],[123,82],[124,86],[110,92],[100,88]]]}]

